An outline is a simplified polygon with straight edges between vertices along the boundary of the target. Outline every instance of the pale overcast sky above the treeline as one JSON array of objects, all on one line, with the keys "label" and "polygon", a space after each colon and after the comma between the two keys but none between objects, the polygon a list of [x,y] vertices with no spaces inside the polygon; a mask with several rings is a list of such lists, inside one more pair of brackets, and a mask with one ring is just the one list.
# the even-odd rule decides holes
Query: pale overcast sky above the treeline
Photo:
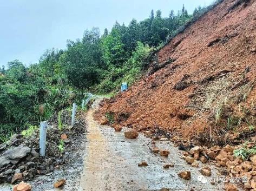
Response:
[{"label": "pale overcast sky above the treeline", "polygon": [[160,9],[167,17],[185,8],[207,6],[213,0],[8,0],[0,4],[0,65],[18,59],[36,63],[46,49],[65,48],[67,39],[81,38],[92,27],[111,29],[115,21],[126,25],[141,21]]}]

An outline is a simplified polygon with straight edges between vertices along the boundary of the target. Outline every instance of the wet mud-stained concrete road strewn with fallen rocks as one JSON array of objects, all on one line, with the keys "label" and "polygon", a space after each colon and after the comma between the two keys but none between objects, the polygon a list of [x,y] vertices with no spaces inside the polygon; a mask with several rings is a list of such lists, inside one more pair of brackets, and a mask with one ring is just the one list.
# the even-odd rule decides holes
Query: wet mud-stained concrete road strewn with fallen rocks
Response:
[{"label": "wet mud-stained concrete road strewn with fallen rocks", "polygon": [[[222,185],[211,185],[198,181],[199,168],[193,168],[180,159],[181,152],[169,141],[159,141],[156,146],[169,149],[168,158],[150,152],[150,139],[143,135],[128,140],[121,132],[115,132],[108,126],[100,126],[94,121],[93,113],[99,105],[97,99],[88,111],[88,133],[84,169],[81,175],[80,189],[94,190],[221,190]],[[141,161],[147,161],[147,167],[138,167]],[[173,168],[163,169],[166,163],[174,163]],[[200,167],[202,164],[200,163]],[[212,167],[213,174],[216,171]],[[190,170],[192,179],[183,180],[178,176],[181,170]]]}]

